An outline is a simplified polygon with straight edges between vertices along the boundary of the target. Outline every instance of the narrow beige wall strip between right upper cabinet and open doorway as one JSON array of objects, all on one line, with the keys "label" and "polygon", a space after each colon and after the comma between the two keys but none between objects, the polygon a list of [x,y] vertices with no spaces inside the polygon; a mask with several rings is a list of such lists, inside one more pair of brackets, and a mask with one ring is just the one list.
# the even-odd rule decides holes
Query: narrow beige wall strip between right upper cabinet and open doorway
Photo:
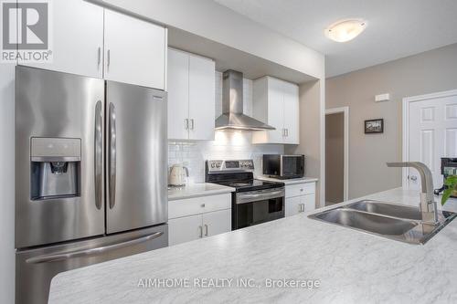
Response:
[{"label": "narrow beige wall strip between right upper cabinet and open doorway", "polygon": [[[300,86],[300,144],[286,145],[286,154],[304,154],[306,157],[306,176],[321,179],[324,163],[321,162],[321,84],[310,81]],[[316,202],[321,202],[321,180],[316,187]],[[316,203],[319,205],[319,203]],[[322,202],[321,202],[322,204]]]}]

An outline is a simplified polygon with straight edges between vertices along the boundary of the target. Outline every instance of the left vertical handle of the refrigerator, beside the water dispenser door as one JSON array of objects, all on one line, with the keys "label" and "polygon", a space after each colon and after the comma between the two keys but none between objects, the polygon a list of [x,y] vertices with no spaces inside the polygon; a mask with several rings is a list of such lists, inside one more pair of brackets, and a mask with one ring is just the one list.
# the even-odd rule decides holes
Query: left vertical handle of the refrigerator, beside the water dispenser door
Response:
[{"label": "left vertical handle of the refrigerator, beside the water dispenser door", "polygon": [[95,206],[101,209],[101,162],[103,162],[102,153],[102,130],[101,130],[101,100],[95,105]]}]

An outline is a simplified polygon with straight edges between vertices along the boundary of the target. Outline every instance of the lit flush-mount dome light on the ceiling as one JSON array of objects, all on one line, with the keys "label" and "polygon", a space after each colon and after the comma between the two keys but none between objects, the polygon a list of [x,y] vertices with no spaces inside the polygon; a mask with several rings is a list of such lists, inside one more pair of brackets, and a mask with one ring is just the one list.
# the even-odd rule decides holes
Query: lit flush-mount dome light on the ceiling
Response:
[{"label": "lit flush-mount dome light on the ceiling", "polygon": [[336,41],[346,42],[359,36],[367,27],[367,21],[362,19],[345,19],[335,22],[325,28],[325,36]]}]

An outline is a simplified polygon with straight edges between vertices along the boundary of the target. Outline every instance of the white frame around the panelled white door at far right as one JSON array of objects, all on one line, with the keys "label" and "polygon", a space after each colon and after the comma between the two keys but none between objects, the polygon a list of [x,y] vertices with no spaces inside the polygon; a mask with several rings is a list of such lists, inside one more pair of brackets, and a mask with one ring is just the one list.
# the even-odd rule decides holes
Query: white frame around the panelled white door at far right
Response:
[{"label": "white frame around the panelled white door at far right", "polygon": [[[410,96],[403,99],[403,142],[402,142],[402,160],[403,162],[409,162],[409,103],[417,102],[422,100],[435,100],[443,97],[457,96],[457,89],[445,90],[441,92]],[[404,189],[409,188],[408,183],[408,168],[403,168],[401,184]]]}]

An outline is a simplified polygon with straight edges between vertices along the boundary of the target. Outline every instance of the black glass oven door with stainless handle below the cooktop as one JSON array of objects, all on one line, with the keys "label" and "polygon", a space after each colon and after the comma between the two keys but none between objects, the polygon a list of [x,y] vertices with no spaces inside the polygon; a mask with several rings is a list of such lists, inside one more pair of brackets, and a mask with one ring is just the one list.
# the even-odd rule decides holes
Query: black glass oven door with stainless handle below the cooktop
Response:
[{"label": "black glass oven door with stainless handle below the cooktop", "polygon": [[235,194],[232,230],[284,217],[284,188]]}]

